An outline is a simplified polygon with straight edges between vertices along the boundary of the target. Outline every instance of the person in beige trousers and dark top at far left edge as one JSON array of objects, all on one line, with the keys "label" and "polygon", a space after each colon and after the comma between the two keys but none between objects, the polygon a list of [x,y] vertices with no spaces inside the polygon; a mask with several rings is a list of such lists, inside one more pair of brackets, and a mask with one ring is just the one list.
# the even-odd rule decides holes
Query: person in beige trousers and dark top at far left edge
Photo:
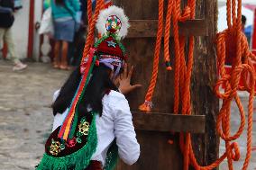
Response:
[{"label": "person in beige trousers and dark top at far left edge", "polygon": [[13,33],[11,27],[14,23],[14,0],[0,0],[0,49],[3,49],[4,42],[14,62],[14,71],[27,67],[17,58],[14,48]]}]

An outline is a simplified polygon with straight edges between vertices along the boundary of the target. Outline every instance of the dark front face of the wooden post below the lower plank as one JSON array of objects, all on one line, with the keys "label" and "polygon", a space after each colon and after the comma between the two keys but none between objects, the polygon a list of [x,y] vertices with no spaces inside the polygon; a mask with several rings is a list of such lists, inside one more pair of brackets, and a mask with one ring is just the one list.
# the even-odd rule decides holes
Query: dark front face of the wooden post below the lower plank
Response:
[{"label": "dark front face of the wooden post below the lower plank", "polygon": [[136,130],[138,142],[141,145],[141,157],[133,166],[127,166],[120,161],[119,170],[181,170],[182,155],[178,146],[177,136],[174,144],[169,145],[170,133]]}]

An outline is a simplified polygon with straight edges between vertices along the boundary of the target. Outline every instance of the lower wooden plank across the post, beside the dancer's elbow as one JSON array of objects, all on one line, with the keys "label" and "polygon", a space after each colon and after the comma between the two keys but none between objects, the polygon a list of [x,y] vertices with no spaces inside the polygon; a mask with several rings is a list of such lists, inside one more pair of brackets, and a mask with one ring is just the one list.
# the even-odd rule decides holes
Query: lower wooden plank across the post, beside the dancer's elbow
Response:
[{"label": "lower wooden plank across the post, beside the dancer's elbow", "polygon": [[205,133],[205,115],[133,112],[135,130]]}]

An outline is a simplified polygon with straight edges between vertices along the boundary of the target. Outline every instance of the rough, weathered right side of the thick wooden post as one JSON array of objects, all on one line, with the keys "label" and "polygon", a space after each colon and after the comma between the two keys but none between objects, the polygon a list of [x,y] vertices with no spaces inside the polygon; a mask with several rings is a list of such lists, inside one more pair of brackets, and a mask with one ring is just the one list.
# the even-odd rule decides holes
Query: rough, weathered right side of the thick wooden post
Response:
[{"label": "rough, weathered right side of the thick wooden post", "polygon": [[214,94],[217,78],[215,34],[217,0],[197,0],[197,18],[205,18],[208,36],[195,38],[195,59],[192,74],[191,101],[193,114],[206,115],[206,133],[192,134],[192,145],[200,165],[210,165],[218,157],[219,137],[216,116],[219,101]]}]

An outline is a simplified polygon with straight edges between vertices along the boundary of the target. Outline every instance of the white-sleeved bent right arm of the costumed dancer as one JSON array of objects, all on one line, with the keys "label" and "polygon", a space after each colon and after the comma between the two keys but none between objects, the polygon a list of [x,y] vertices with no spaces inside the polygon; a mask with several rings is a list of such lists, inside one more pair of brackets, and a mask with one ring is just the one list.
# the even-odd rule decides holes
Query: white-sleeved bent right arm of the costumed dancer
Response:
[{"label": "white-sleeved bent right arm of the costumed dancer", "polygon": [[133,127],[132,113],[127,100],[118,99],[115,103],[114,135],[119,157],[128,165],[133,165],[140,156],[140,145]]}]

